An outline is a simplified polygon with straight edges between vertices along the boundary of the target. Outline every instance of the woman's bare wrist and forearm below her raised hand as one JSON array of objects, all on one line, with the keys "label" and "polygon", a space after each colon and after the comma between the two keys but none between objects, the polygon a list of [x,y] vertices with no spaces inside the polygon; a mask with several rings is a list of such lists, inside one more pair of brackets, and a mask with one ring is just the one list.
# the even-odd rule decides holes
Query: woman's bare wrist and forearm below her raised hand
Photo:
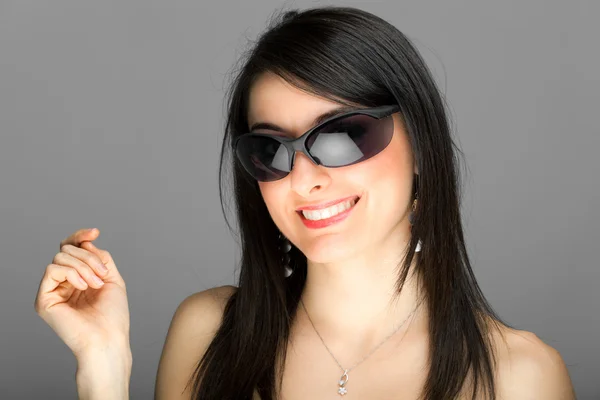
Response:
[{"label": "woman's bare wrist and forearm below her raised hand", "polygon": [[80,400],[128,400],[131,351],[95,351],[78,360],[77,393]]}]

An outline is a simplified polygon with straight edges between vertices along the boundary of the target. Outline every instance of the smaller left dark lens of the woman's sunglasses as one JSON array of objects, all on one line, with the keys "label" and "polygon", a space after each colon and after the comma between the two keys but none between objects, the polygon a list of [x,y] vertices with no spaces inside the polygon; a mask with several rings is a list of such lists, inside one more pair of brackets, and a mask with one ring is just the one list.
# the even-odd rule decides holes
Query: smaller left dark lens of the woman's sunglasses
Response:
[{"label": "smaller left dark lens of the woman's sunglasses", "polygon": [[236,154],[246,171],[261,182],[275,181],[289,173],[287,149],[274,139],[242,136]]}]

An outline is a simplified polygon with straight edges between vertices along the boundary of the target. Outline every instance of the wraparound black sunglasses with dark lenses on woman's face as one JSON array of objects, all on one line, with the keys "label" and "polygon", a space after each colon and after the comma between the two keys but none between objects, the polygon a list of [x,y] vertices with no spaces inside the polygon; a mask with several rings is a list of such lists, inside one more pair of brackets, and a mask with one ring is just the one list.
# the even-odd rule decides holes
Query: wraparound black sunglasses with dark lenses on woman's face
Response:
[{"label": "wraparound black sunglasses with dark lenses on woman's face", "polygon": [[346,167],[380,153],[394,134],[391,115],[397,105],[352,110],[329,118],[298,138],[265,133],[245,133],[233,143],[244,169],[256,180],[272,182],[285,178],[297,151],[316,165]]}]

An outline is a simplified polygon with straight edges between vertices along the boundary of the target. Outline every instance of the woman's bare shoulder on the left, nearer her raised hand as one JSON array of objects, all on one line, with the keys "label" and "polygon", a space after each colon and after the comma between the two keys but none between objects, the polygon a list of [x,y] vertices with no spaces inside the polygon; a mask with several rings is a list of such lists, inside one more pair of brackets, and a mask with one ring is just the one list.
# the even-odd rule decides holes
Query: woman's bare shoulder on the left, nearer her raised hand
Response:
[{"label": "woman's bare shoulder on the left, nearer her raised hand", "polygon": [[171,320],[156,375],[155,399],[189,399],[187,386],[219,328],[235,286],[218,286],[186,297]]}]

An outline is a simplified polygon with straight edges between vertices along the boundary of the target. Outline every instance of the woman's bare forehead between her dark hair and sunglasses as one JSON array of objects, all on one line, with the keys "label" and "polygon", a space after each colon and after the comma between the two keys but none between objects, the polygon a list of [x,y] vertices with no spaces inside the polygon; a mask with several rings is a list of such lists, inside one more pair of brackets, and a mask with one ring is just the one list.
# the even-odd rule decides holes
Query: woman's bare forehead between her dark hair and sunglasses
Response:
[{"label": "woman's bare forehead between her dark hair and sunglasses", "polygon": [[269,122],[289,132],[304,132],[317,116],[340,105],[304,92],[278,75],[267,72],[250,88],[248,126]]}]

